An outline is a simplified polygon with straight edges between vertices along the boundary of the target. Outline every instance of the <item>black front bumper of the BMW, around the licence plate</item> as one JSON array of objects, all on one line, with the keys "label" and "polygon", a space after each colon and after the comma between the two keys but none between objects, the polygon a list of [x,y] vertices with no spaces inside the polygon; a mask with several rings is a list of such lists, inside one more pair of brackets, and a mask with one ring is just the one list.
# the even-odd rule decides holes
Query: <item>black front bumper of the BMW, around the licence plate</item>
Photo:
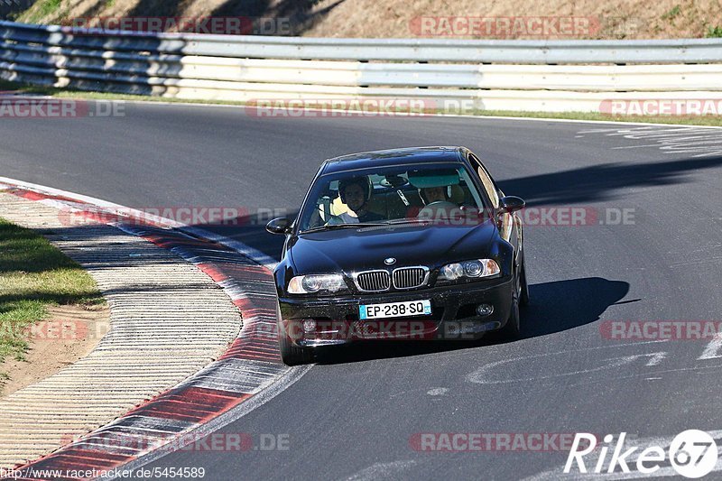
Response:
[{"label": "black front bumper of the BMW, around the licence plate", "polygon": [[[504,327],[512,304],[512,279],[449,284],[418,291],[393,291],[367,295],[324,298],[282,297],[279,299],[282,335],[301,347],[319,347],[358,340],[478,338],[485,332]],[[430,300],[431,315],[411,318],[359,320],[362,304]],[[478,304],[490,304],[494,311],[477,315]],[[303,321],[313,319],[316,328],[303,329]]]}]

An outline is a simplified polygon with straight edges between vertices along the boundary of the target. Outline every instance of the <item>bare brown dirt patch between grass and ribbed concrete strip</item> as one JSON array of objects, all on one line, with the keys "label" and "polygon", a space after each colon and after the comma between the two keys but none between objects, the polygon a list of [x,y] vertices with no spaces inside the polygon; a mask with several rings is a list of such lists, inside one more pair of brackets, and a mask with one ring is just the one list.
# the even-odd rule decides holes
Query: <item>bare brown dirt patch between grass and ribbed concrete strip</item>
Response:
[{"label": "bare brown dirt patch between grass and ribbed concrete strip", "polygon": [[110,310],[78,306],[49,308],[51,317],[28,330],[30,350],[25,360],[6,358],[0,373],[0,398],[54,375],[63,367],[87,356],[110,329]]}]

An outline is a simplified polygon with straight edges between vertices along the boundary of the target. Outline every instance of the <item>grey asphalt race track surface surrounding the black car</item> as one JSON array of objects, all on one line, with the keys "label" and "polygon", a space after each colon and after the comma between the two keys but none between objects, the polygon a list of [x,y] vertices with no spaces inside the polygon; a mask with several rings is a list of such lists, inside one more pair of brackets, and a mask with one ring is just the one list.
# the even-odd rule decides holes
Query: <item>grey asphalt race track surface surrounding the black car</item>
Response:
[{"label": "grey asphalt race track surface surrounding the black car", "polygon": [[589,225],[526,227],[523,339],[329,351],[219,431],[281,436],[288,449],[189,449],[147,465],[205,467],[207,479],[555,479],[567,450],[429,452],[415,441],[581,431],[669,441],[722,429],[722,348],[605,335],[605,321],[722,320],[722,130],[670,149],[670,129],[127,105],[124,117],[3,120],[0,171],[136,208],[246,208],[244,227],[217,230],[275,258],[282,239],[264,233],[258,209],[292,215],[319,163],[343,153],[463,144],[506,194],[546,209],[547,224],[559,218],[550,208],[585,208]]}]

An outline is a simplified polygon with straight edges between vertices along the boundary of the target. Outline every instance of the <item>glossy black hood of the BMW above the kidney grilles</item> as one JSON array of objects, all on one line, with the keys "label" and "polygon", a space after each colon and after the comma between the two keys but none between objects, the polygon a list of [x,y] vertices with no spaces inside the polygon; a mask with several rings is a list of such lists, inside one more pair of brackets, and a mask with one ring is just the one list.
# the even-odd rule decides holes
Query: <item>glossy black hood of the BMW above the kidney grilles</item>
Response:
[{"label": "glossy black hood of the BMW above the kidney grilles", "polygon": [[351,273],[384,268],[384,260],[396,259],[394,267],[426,265],[484,258],[495,235],[493,221],[475,226],[358,227],[301,234],[289,245],[297,274]]}]

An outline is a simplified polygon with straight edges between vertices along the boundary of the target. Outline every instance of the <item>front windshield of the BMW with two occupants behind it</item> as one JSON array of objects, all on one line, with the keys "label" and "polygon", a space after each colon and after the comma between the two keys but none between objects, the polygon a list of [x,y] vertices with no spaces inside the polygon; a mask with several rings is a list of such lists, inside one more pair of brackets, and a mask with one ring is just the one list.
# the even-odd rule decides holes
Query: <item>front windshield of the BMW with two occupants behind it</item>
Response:
[{"label": "front windshield of the BMW with two occupants behind it", "polygon": [[299,231],[459,219],[478,222],[481,212],[484,202],[463,165],[384,166],[321,176],[304,203]]}]

